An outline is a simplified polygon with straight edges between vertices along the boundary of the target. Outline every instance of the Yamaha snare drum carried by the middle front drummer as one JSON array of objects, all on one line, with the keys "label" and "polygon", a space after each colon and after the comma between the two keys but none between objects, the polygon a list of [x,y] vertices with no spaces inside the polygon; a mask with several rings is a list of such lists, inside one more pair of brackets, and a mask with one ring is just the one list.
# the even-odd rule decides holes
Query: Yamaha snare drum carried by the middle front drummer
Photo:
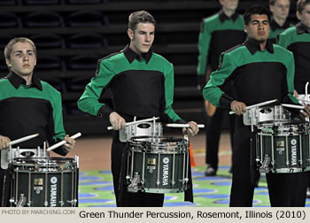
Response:
[{"label": "Yamaha snare drum carried by the middle front drummer", "polygon": [[189,142],[163,136],[128,141],[128,192],[179,193],[189,181]]}]

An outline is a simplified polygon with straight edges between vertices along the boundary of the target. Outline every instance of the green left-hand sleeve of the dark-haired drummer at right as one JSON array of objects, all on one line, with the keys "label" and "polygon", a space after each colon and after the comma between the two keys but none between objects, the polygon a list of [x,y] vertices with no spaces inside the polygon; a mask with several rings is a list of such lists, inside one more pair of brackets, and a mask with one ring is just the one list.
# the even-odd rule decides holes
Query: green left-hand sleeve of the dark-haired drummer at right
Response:
[{"label": "green left-hand sleeve of the dark-haired drummer at right", "polygon": [[221,54],[220,68],[211,73],[210,81],[205,85],[203,95],[205,100],[216,107],[220,106],[220,98],[224,95],[220,86],[229,78],[230,74],[236,69],[236,64],[229,54]]}]

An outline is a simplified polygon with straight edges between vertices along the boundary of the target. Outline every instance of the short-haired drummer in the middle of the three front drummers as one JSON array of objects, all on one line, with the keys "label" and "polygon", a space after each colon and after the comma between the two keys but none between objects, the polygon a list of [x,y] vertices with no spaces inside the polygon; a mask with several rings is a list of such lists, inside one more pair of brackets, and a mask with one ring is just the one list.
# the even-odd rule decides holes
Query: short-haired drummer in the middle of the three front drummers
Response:
[{"label": "short-haired drummer in the middle of the three front drummers", "polygon": [[[123,129],[127,121],[160,116],[164,122],[186,123],[173,110],[174,66],[152,52],[155,35],[155,19],[149,12],[133,12],[129,15],[127,45],[120,52],[102,58],[97,63],[96,77],[86,86],[78,101],[81,111],[107,118],[114,130]],[[112,91],[112,105],[99,97]],[[194,121],[182,132],[197,135]],[[112,133],[112,175],[117,206],[163,206],[163,194],[119,194],[120,166],[126,143],[120,142],[119,131]],[[122,185],[121,185],[122,186]]]}]

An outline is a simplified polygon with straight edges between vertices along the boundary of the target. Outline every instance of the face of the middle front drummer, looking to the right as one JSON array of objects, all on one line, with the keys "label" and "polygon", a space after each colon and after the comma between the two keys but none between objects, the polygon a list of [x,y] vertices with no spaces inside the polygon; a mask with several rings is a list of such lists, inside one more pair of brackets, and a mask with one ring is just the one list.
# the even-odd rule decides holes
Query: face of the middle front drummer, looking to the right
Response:
[{"label": "face of the middle front drummer, looking to the right", "polygon": [[131,50],[138,55],[147,53],[154,42],[155,26],[152,23],[138,23],[135,31],[128,29],[128,36]]}]

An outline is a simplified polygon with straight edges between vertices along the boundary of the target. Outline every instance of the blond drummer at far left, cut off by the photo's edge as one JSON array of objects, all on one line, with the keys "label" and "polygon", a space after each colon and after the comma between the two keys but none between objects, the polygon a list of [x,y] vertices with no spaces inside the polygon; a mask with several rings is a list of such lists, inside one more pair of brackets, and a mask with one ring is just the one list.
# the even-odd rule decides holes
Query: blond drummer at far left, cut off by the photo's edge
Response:
[{"label": "blond drummer at far left, cut off by the photo's edge", "polygon": [[[0,80],[0,150],[7,149],[12,139],[38,133],[38,137],[16,146],[35,149],[43,147],[43,142],[52,145],[65,140],[54,150],[65,156],[74,149],[75,141],[64,130],[60,93],[34,75],[35,43],[24,37],[14,38],[5,46],[4,57],[10,73]],[[4,206],[9,198],[8,193],[3,194],[5,173],[0,168],[0,200]]]}]

